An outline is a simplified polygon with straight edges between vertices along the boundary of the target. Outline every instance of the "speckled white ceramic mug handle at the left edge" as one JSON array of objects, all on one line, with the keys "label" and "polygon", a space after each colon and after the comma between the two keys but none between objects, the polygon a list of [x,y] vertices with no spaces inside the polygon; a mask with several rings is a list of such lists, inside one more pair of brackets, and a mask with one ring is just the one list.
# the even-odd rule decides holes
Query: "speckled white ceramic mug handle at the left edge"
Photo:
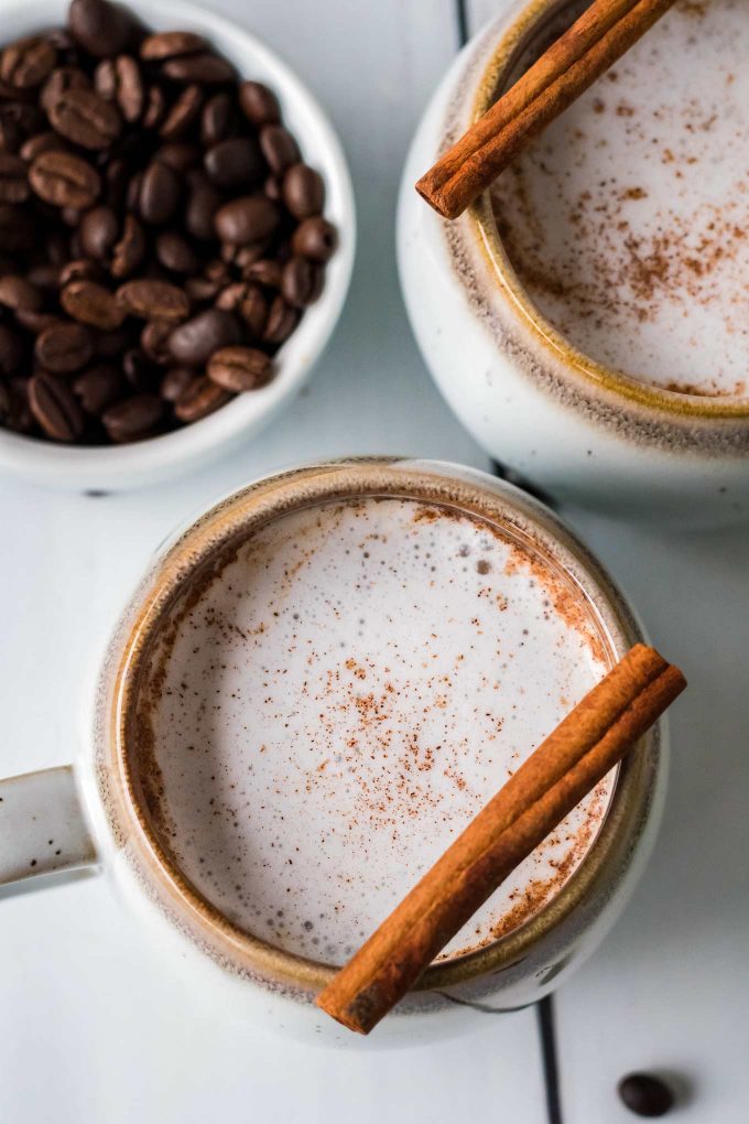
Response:
[{"label": "speckled white ceramic mug handle at the left edge", "polygon": [[0,896],[4,887],[10,894],[31,889],[25,882],[38,874],[97,861],[72,765],[0,780]]}]

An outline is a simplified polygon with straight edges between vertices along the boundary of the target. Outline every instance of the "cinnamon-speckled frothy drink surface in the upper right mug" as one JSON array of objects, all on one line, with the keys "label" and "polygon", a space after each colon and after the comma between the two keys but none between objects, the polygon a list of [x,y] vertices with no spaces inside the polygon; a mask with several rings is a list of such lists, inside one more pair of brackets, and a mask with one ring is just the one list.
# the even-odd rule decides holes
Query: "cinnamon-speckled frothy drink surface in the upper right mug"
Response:
[{"label": "cinnamon-speckled frothy drink surface in the upper right mug", "polygon": [[542,314],[608,366],[749,395],[749,9],[679,0],[494,188]]}]

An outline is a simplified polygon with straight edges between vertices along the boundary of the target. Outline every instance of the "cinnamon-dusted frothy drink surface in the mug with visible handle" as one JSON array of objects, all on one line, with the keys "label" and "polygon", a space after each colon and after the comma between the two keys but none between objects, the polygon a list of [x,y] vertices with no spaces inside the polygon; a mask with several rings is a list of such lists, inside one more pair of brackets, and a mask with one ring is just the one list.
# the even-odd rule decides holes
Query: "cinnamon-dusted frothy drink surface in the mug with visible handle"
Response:
[{"label": "cinnamon-dusted frothy drink surface in the mug with visible handle", "polygon": [[[487,524],[401,499],[292,513],[183,595],[149,655],[157,830],[232,922],[340,963],[603,671],[582,599]],[[559,889],[611,785],[448,954]]]}]

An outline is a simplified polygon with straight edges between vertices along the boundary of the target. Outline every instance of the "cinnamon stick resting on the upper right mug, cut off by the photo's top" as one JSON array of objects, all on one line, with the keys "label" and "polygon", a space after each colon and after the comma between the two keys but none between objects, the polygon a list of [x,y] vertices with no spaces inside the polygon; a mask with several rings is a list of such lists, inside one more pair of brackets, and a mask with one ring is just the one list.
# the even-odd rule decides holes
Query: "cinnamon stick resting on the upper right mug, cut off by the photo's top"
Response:
[{"label": "cinnamon stick resting on the upper right mug, cut off by the photo's top", "polygon": [[674,0],[594,0],[572,27],[419,180],[420,196],[457,218],[531,137],[629,51]]}]

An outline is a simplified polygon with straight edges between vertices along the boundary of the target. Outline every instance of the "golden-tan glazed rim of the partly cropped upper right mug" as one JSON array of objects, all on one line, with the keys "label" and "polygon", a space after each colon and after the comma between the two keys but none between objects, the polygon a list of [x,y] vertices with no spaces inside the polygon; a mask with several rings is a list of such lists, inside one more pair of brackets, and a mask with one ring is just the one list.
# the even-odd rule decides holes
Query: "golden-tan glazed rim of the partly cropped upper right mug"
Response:
[{"label": "golden-tan glazed rim of the partly cropped upper right mug", "polygon": [[[570,0],[530,0],[530,3],[504,28],[475,88],[468,121],[475,121],[493,103],[495,91],[502,87],[531,35],[569,2]],[[544,317],[512,268],[496,229],[488,192],[472,205],[466,211],[466,217],[491,271],[508,301],[531,332],[535,343],[544,351],[550,352],[557,361],[561,360],[576,375],[639,406],[683,418],[749,418],[747,397],[687,395],[666,390],[599,363],[578,351]]]}]

